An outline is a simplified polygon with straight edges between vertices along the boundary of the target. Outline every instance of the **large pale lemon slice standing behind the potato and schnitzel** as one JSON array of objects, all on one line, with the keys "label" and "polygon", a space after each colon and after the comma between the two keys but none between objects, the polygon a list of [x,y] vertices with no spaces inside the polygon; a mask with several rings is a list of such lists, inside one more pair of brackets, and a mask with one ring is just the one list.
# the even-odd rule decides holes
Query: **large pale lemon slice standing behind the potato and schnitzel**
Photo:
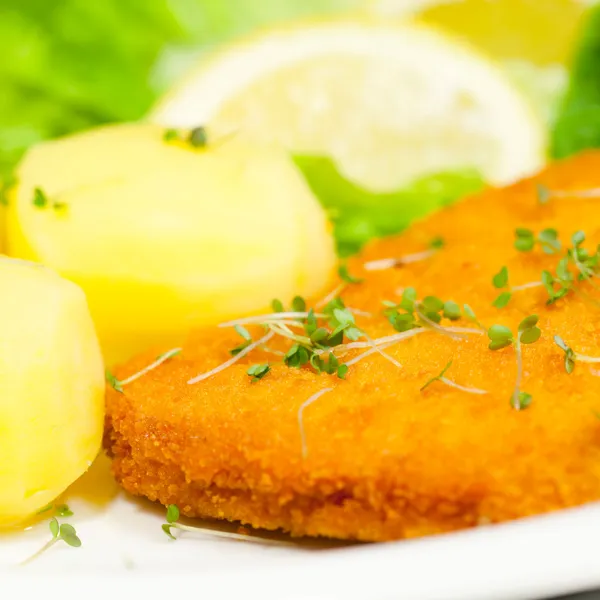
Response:
[{"label": "large pale lemon slice standing behind the potato and schnitzel", "polygon": [[376,192],[476,168],[503,184],[544,162],[544,127],[494,63],[425,26],[335,21],[274,30],[203,62],[152,112],[332,157]]}]

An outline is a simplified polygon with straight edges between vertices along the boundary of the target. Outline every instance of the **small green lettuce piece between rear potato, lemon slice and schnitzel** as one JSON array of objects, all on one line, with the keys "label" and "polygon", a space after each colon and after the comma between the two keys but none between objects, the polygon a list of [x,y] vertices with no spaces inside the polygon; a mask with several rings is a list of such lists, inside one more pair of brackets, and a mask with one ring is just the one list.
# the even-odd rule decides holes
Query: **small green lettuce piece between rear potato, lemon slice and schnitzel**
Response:
[{"label": "small green lettuce piece between rear potato, lemon slice and schnitzel", "polygon": [[334,222],[341,256],[357,252],[373,238],[398,233],[416,219],[485,187],[477,171],[465,169],[425,176],[396,192],[378,194],[347,180],[329,158],[295,156],[294,160]]}]

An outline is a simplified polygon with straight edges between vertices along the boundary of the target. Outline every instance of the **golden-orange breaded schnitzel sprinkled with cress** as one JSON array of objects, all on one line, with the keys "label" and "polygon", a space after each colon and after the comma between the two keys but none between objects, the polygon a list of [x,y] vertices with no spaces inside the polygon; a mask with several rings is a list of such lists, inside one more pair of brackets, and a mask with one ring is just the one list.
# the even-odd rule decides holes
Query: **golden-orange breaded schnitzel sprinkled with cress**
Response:
[{"label": "golden-orange breaded schnitzel sprinkled with cress", "polygon": [[[565,192],[597,189],[599,173],[598,152],[556,164],[532,180],[489,190],[376,242],[349,264],[363,281],[346,284],[340,294],[347,307],[360,311],[354,312],[356,326],[368,340],[360,337],[358,349],[334,349],[340,363],[367,352],[369,340],[379,343],[398,333],[382,301],[400,302],[402,290],[411,286],[419,299],[435,295],[468,304],[485,328],[501,324],[516,332],[524,317],[539,315],[541,338],[520,345],[519,389],[531,395],[523,396],[521,410],[513,396],[517,344],[490,350],[490,339],[472,318],[443,318],[441,331],[421,322],[409,330],[414,335],[381,345],[401,367],[372,351],[349,366],[345,379],[319,375],[309,365],[282,364],[273,352],[288,351],[291,343],[275,335],[266,347],[189,384],[230,360],[229,351],[243,341],[231,327],[204,329],[122,393],[108,389],[105,446],[117,480],[132,494],[177,504],[187,516],[281,528],[295,536],[377,541],[599,500],[600,373],[571,354],[574,369],[568,374],[565,352],[553,338],[559,335],[580,355],[600,356],[600,293],[595,275],[591,282],[578,281],[573,261],[574,280],[564,284],[562,298],[547,304],[550,292],[539,284],[544,270],[555,273],[558,267],[560,275],[560,259],[577,242],[571,241],[574,232],[584,231],[580,247],[590,256],[595,252],[600,197]],[[525,230],[533,232],[532,249],[515,248],[516,228],[523,229],[521,238],[531,237]],[[562,247],[548,253],[552,249],[538,237],[552,228]],[[429,252],[438,237],[443,248]],[[423,251],[416,255],[420,260],[412,256]],[[412,258],[395,268],[365,268],[407,255]],[[496,289],[492,278],[503,266],[508,283],[502,287],[501,277],[496,283],[502,289]],[[549,287],[560,296],[561,285]],[[492,306],[511,286],[508,305]],[[247,328],[254,340],[264,334],[260,327]],[[450,337],[456,328],[471,331]],[[143,369],[156,354],[137,357],[116,376]],[[440,380],[421,391],[450,361],[447,380],[486,393]],[[262,363],[270,363],[270,371],[251,378],[249,366]],[[307,405],[311,398],[316,400]]]}]

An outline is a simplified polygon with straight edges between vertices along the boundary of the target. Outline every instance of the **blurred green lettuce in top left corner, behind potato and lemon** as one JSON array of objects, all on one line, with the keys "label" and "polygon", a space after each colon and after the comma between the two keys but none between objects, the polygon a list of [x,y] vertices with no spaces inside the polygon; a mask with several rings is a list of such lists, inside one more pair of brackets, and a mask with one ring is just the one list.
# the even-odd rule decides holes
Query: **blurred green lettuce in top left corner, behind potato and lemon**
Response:
[{"label": "blurred green lettuce in top left corner, behind potato and lemon", "polygon": [[[359,2],[1,0],[0,178],[36,142],[142,118],[217,43]],[[165,68],[165,56],[181,53],[187,63]]]}]

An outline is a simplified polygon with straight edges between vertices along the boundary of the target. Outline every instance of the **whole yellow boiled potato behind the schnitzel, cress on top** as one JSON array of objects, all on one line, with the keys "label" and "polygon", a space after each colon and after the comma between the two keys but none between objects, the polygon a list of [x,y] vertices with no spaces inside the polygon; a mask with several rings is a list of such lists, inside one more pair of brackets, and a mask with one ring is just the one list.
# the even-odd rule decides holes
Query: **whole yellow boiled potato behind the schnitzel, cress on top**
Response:
[{"label": "whole yellow boiled potato behind the schnitzel, cress on top", "polygon": [[8,207],[9,253],[81,285],[109,364],[320,293],[335,264],[325,214],[281,150],[164,133],[127,124],[43,143]]}]

